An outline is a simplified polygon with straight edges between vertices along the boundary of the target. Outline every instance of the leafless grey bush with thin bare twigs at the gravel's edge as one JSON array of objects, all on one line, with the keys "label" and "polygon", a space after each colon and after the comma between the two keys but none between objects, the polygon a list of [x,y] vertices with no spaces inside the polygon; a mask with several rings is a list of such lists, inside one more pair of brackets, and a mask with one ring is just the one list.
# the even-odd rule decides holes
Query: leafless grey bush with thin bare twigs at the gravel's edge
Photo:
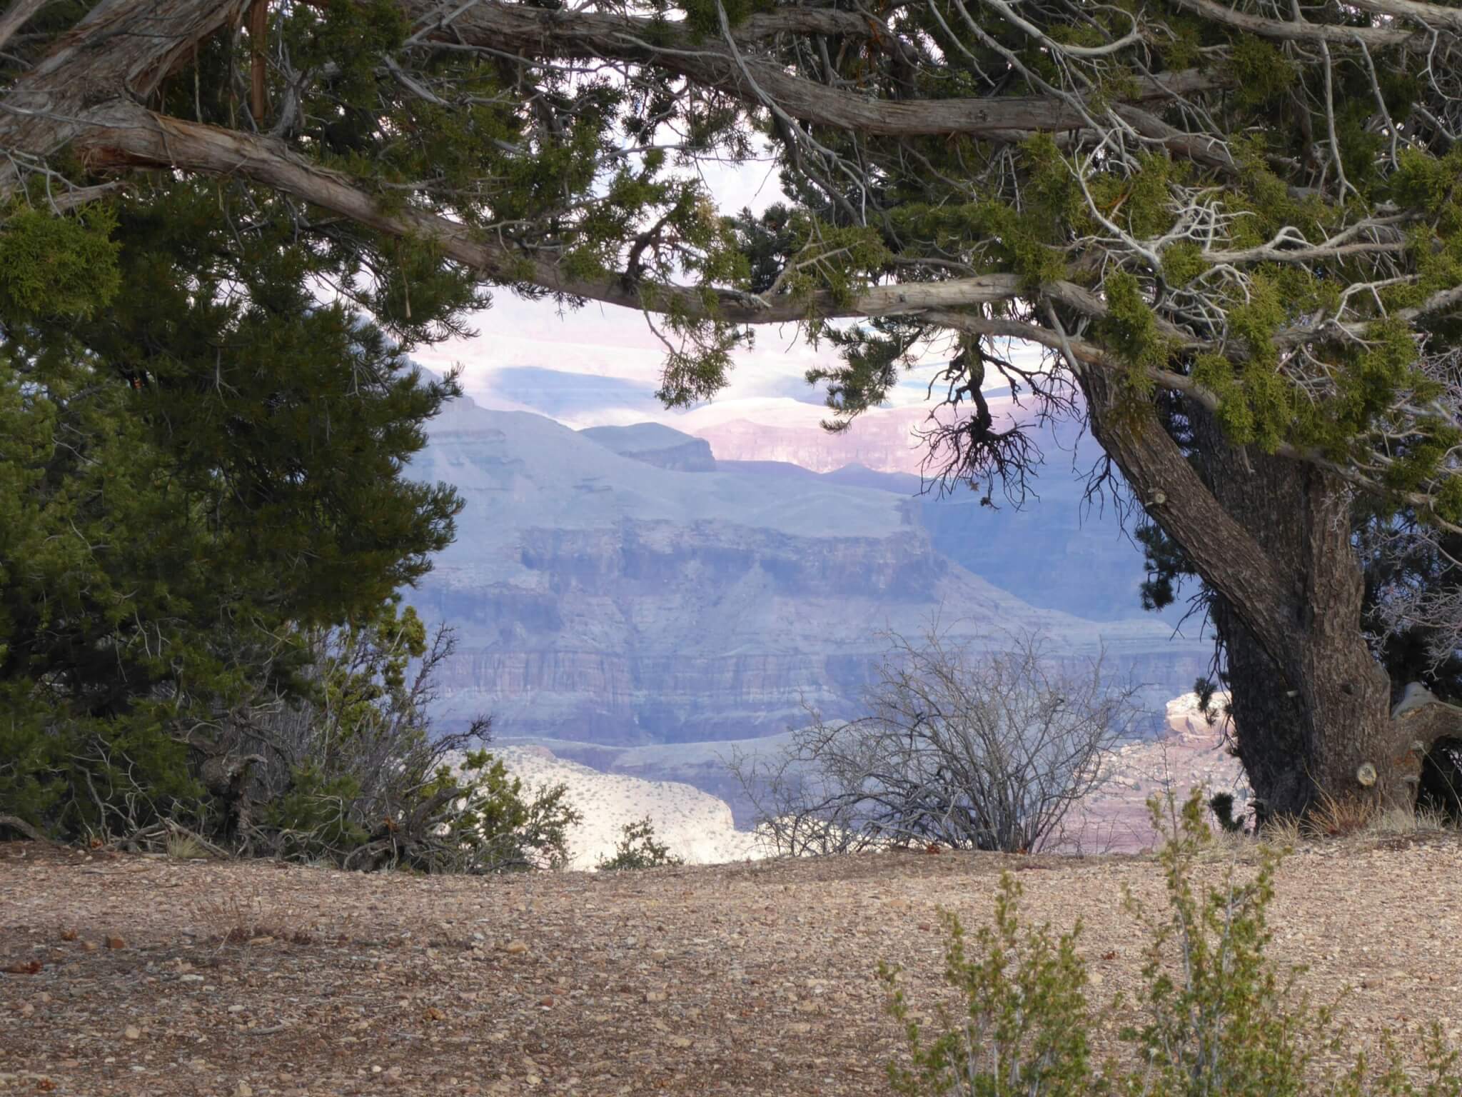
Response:
[{"label": "leafless grey bush with thin bare twigs at the gravel's edge", "polygon": [[933,629],[917,645],[890,639],[868,715],[811,712],[781,755],[731,761],[773,851],[1035,851],[1139,715],[1136,687],[1114,683],[1102,657],[1075,671],[1038,636],[980,657]]}]

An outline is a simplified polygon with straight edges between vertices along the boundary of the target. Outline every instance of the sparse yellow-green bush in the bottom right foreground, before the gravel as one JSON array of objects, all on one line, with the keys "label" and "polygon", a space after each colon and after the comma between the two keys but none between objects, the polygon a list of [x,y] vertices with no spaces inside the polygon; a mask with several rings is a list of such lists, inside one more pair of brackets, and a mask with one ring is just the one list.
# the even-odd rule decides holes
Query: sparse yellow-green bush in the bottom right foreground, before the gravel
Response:
[{"label": "sparse yellow-green bush in the bottom right foreground, before the gravel", "polygon": [[[1178,807],[1173,796],[1148,802],[1165,834],[1158,860],[1167,911],[1145,911],[1130,892],[1129,910],[1149,945],[1140,995],[1143,1022],[1121,1030],[1137,1066],[1108,1059],[1092,1066],[1086,970],[1076,952],[1080,923],[1058,938],[1048,926],[1022,935],[1020,886],[1006,873],[996,892],[994,924],[969,936],[943,913],[947,929],[944,980],[963,1000],[963,1015],[939,1011],[936,1034],[914,1018],[898,970],[880,964],[889,1012],[904,1025],[909,1065],[889,1063],[893,1088],[906,1097],[1462,1097],[1462,1052],[1442,1027],[1423,1036],[1427,1079],[1402,1069],[1395,1037],[1379,1049],[1382,1069],[1366,1052],[1344,1074],[1317,1072],[1317,1056],[1335,1062],[1345,1030],[1336,1003],[1313,1006],[1297,989],[1304,968],[1279,970],[1266,954],[1268,908],[1282,854],[1259,847],[1259,869],[1238,882],[1234,867],[1218,885],[1194,885],[1194,866],[1213,834],[1194,790]],[[1123,1008],[1121,996],[1111,1003]]]}]

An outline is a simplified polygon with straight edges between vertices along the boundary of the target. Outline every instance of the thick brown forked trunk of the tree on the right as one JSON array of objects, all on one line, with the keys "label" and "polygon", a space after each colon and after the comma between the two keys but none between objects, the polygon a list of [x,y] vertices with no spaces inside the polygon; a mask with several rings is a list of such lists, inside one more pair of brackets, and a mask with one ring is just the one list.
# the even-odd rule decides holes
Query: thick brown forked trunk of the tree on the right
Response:
[{"label": "thick brown forked trunk of the tree on the right", "polygon": [[1303,815],[1322,794],[1409,807],[1421,752],[1450,721],[1392,718],[1390,680],[1361,632],[1345,486],[1311,465],[1234,448],[1208,412],[1190,408],[1194,471],[1105,372],[1085,373],[1082,386],[1098,440],[1219,595],[1235,739],[1260,816]]}]

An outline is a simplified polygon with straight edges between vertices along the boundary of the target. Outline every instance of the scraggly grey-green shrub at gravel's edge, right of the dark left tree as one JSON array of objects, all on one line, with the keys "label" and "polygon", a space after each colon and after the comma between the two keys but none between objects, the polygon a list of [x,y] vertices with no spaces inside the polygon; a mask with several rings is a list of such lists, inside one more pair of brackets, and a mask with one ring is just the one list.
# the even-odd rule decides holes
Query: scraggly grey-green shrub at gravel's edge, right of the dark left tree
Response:
[{"label": "scraggly grey-green shrub at gravel's edge, right of the dark left tree", "polygon": [[[488,721],[433,734],[427,704],[452,655],[392,598],[367,617],[310,632],[308,689],[254,704],[225,730],[253,753],[249,847],[291,860],[418,872],[551,867],[580,815],[564,785],[528,790],[481,747]],[[221,821],[227,822],[227,821]],[[227,826],[218,826],[227,837]]]}]

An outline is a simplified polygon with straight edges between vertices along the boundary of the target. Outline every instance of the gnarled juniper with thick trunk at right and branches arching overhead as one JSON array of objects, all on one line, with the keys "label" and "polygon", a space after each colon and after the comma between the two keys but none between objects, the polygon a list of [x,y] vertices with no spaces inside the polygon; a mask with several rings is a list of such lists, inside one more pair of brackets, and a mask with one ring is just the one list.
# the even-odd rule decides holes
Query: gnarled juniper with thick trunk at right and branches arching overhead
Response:
[{"label": "gnarled juniper with thick trunk at right and branches arching overhead", "polygon": [[[1390,718],[1351,513],[1462,527],[1459,9],[38,7],[0,20],[6,233],[39,211],[96,234],[98,202],[212,180],[361,256],[389,317],[447,272],[645,310],[671,404],[757,325],[835,348],[810,374],[835,421],[955,338],[934,459],[1020,496],[1039,451],[984,404],[997,376],[1089,418],[1215,594],[1269,809],[1412,796],[1446,721]],[[788,195],[763,216],[684,170],[762,142]]]}]

